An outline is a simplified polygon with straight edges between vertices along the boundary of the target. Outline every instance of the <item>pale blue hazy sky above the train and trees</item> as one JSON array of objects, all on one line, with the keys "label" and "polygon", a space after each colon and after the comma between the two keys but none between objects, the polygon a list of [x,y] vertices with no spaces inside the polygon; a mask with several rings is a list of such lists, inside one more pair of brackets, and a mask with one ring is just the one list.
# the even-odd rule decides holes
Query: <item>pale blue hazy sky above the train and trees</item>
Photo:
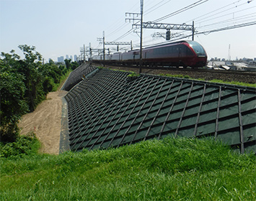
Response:
[{"label": "pale blue hazy sky above the train and trees", "polygon": [[[198,1],[144,0],[144,22],[154,22]],[[208,0],[160,22],[192,24],[205,32],[256,22],[256,1]],[[0,52],[16,50],[18,45],[34,45],[45,60],[66,55],[79,55],[80,47],[101,48],[97,37],[105,31],[107,42],[118,41],[139,44],[138,35],[125,23],[125,12],[140,12],[140,0],[0,0]],[[144,45],[164,42],[153,38],[154,32],[164,29],[144,29]],[[190,32],[172,33],[190,34]],[[122,37],[124,36],[125,37]],[[195,36],[205,47],[208,57],[227,58],[229,45],[231,59],[256,57],[256,25],[222,32],[206,32]],[[191,37],[189,38],[191,39]],[[108,46],[114,49],[114,46]],[[114,50],[112,50],[114,51]]]}]

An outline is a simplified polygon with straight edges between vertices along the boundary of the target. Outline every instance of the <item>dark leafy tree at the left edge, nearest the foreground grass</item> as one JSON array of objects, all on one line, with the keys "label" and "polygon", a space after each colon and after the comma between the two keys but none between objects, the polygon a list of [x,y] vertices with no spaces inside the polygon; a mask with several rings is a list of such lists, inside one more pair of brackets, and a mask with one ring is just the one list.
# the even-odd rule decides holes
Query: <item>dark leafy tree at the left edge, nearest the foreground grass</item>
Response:
[{"label": "dark leafy tree at the left edge, nearest the foreground grass", "polygon": [[[4,68],[3,62],[0,67]],[[19,134],[17,123],[21,116],[28,111],[23,80],[22,75],[8,72],[6,69],[5,72],[1,71],[0,73],[0,141],[15,141]]]}]

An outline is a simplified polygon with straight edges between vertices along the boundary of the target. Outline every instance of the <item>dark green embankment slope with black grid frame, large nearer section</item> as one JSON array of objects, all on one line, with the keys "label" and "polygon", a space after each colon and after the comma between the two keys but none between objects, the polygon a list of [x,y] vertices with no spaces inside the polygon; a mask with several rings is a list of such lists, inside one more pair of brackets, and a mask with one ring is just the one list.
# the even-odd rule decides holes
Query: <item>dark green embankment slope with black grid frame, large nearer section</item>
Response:
[{"label": "dark green embankment slope with black grid frame, large nearer section", "polygon": [[256,89],[99,70],[66,95],[71,150],[167,136],[221,139],[256,152]]}]

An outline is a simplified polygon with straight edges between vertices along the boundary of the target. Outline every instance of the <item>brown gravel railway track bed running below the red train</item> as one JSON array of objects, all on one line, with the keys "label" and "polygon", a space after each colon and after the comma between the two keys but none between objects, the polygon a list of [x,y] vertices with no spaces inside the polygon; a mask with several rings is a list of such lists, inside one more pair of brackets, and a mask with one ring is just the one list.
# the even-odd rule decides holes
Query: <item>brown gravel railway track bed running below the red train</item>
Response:
[{"label": "brown gravel railway track bed running below the red train", "polygon": [[[94,64],[99,66],[99,64]],[[127,70],[138,73],[139,67],[133,65],[105,65],[116,70]],[[229,82],[256,83],[256,73],[235,70],[207,70],[201,68],[176,68],[176,67],[141,67],[141,73],[151,75],[187,75],[193,79],[224,80]]]}]

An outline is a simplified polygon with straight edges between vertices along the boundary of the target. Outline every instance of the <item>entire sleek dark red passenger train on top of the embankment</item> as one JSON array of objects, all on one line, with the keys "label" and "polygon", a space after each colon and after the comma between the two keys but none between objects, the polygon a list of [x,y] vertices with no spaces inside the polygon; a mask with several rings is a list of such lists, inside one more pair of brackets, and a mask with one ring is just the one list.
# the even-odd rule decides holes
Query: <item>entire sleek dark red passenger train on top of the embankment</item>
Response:
[{"label": "entire sleek dark red passenger train on top of the embankment", "polygon": [[[94,56],[92,62],[103,62],[103,56]],[[105,64],[139,65],[140,50],[105,55]],[[203,67],[206,66],[206,51],[198,42],[183,40],[164,45],[146,47],[142,50],[142,65]]]}]

